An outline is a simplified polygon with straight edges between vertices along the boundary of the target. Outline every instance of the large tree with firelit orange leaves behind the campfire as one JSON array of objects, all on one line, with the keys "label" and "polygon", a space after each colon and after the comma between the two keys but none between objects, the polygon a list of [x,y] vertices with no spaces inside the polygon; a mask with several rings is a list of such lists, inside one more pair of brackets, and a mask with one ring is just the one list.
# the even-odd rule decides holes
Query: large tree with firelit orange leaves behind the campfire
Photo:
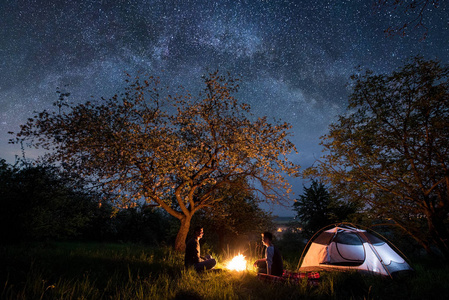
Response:
[{"label": "large tree with firelit orange leaves behind the campfire", "polygon": [[217,193],[248,179],[269,201],[290,192],[286,174],[299,166],[287,155],[290,125],[256,118],[233,96],[238,80],[218,72],[204,78],[198,97],[162,86],[158,78],[129,79],[121,95],[43,111],[21,127],[15,142],[33,142],[47,159],[118,195],[145,200],[179,219],[175,248],[183,250],[192,216],[219,205]]}]

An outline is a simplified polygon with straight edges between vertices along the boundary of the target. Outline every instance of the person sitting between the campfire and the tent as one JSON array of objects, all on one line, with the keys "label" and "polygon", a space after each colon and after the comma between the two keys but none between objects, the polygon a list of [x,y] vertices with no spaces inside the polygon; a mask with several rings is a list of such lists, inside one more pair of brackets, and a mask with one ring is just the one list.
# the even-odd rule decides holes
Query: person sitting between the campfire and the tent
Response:
[{"label": "person sitting between the campfire and the tent", "polygon": [[271,232],[266,231],[262,234],[262,243],[267,247],[265,258],[257,260],[254,263],[254,267],[258,269],[258,273],[282,276],[284,272],[282,255],[279,249],[273,244],[273,235]]}]

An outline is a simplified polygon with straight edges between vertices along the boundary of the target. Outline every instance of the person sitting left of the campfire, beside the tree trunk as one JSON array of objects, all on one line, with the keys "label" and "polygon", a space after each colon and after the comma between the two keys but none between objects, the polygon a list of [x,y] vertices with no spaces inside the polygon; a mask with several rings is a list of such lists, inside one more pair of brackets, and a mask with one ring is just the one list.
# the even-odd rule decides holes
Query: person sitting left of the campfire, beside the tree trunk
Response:
[{"label": "person sitting left of the campfire, beside the tree trunk", "polygon": [[195,227],[193,237],[186,243],[185,267],[193,266],[197,272],[212,269],[217,264],[217,261],[210,255],[205,257],[200,255],[200,239],[203,237],[203,234],[204,231],[201,226]]}]

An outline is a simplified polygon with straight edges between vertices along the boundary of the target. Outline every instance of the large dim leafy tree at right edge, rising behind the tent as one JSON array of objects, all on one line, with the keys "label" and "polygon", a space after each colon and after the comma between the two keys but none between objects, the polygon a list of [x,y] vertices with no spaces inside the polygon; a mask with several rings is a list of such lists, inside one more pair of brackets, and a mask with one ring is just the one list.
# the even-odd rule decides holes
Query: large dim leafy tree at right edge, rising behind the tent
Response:
[{"label": "large dim leafy tree at right edge, rising behind the tent", "polygon": [[348,111],[322,137],[325,154],[312,170],[447,258],[448,74],[416,57],[392,74],[354,76]]}]

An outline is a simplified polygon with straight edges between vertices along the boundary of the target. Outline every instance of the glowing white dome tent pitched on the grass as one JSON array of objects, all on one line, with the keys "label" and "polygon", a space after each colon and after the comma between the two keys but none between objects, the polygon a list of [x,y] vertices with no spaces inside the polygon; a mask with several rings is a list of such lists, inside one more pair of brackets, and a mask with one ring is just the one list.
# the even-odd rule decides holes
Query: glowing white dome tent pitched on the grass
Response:
[{"label": "glowing white dome tent pitched on the grass", "polygon": [[[352,224],[332,225],[309,241],[299,271],[357,270],[391,276],[412,268],[384,240]],[[306,255],[304,256],[305,251]]]}]

